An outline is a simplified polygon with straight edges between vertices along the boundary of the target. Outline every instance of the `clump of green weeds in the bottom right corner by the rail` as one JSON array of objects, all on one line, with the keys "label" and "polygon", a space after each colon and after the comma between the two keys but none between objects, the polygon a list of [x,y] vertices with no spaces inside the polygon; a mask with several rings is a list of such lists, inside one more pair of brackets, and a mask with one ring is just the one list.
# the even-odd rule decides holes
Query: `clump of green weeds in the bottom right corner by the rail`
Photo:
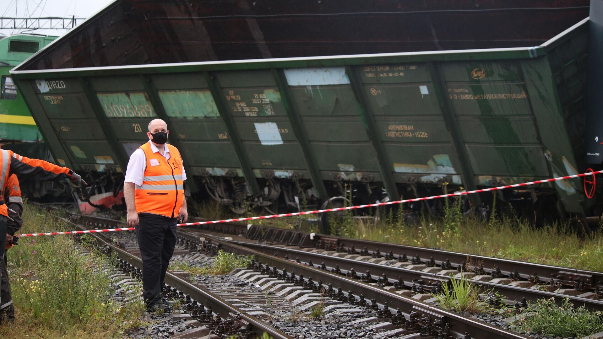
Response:
[{"label": "clump of green weeds in the bottom right corner by the rail", "polygon": [[541,299],[531,305],[530,315],[511,323],[511,328],[528,334],[547,337],[586,337],[603,331],[601,311],[590,312],[573,307],[569,298],[557,306],[553,299]]}]

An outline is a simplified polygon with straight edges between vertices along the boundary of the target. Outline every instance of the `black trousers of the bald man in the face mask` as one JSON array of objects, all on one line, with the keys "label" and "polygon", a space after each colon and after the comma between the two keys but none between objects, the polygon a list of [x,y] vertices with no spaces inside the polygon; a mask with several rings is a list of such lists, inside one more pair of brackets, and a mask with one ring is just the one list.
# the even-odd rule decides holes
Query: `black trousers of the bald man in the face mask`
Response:
[{"label": "black trousers of the bald man in the face mask", "polygon": [[163,279],[176,246],[176,218],[140,213],[136,238],[142,257],[142,297],[147,305],[161,302]]}]

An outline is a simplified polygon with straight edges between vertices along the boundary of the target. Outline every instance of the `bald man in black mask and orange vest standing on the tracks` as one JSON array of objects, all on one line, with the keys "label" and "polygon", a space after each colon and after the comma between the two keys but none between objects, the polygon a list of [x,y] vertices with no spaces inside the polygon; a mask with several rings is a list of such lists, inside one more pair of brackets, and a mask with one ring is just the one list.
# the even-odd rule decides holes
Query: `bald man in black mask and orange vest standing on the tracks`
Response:
[{"label": "bald man in black mask and orange vest standing on the tracks", "polygon": [[136,226],[142,256],[142,296],[147,309],[171,309],[163,297],[163,279],[176,244],[178,218],[188,219],[184,192],[186,173],[180,152],[168,141],[162,119],[149,123],[149,142],[130,156],[125,172],[124,197],[128,226]]}]

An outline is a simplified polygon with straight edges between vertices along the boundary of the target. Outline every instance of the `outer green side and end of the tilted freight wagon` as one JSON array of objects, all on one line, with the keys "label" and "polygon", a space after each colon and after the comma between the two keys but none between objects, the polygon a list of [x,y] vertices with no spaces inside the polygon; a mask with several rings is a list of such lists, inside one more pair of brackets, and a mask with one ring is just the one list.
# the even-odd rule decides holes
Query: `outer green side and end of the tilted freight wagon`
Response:
[{"label": "outer green side and end of the tilted freight wagon", "polygon": [[[191,191],[236,209],[322,203],[347,184],[372,202],[581,173],[587,55],[584,19],[522,48],[40,69],[55,51],[11,74],[59,163],[119,178],[162,118]],[[584,216],[583,191],[500,198]]]}]

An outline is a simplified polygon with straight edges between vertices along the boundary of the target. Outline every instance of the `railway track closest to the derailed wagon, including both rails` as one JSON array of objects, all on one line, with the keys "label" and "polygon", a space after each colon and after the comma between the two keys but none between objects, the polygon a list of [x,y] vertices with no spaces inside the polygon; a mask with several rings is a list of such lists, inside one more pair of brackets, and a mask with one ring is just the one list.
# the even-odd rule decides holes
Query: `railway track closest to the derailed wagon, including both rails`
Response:
[{"label": "railway track closest to the derailed wagon, including both rails", "polygon": [[[561,305],[564,298],[569,298],[576,306],[584,306],[592,311],[603,311],[603,301],[599,300],[603,299],[601,293],[603,274],[598,272],[236,223],[229,223],[224,228],[215,225],[195,227],[197,229],[189,227],[190,232],[202,231],[209,232],[206,233],[208,235],[233,238],[234,243],[260,252],[294,259],[303,264],[321,267],[323,270],[338,271],[340,274],[356,277],[364,282],[383,285],[390,290],[410,289],[416,291],[418,299],[428,300],[429,293],[437,291],[443,282],[461,279],[462,276],[472,279],[475,284],[481,285],[484,289],[493,289],[505,296],[502,301],[510,305],[521,306],[526,302],[549,298],[553,298],[558,305]],[[182,229],[181,233],[183,233]],[[312,244],[314,246],[310,247]],[[350,245],[346,246],[346,244]],[[363,246],[359,253],[355,252],[355,244]],[[371,247],[364,245],[374,246],[374,248],[369,250]],[[390,250],[382,255],[376,246]],[[414,256],[408,259],[410,257],[406,252],[395,255],[391,250],[393,248],[416,249],[424,256],[410,252]],[[437,253],[440,261],[431,255],[429,259],[425,259],[426,254],[434,253]],[[453,260],[464,259],[456,265],[449,258],[443,259],[447,255]],[[407,259],[403,259],[404,257]],[[492,268],[485,268],[484,262],[489,262]],[[503,271],[497,268],[497,264],[500,263],[507,265],[505,266],[507,268],[512,268],[511,263],[516,263],[519,268]],[[555,272],[549,275],[565,272],[568,274],[567,279],[540,278],[537,272],[527,276],[525,273],[519,273],[519,269],[525,272],[527,269],[536,268],[545,274]]]}]

